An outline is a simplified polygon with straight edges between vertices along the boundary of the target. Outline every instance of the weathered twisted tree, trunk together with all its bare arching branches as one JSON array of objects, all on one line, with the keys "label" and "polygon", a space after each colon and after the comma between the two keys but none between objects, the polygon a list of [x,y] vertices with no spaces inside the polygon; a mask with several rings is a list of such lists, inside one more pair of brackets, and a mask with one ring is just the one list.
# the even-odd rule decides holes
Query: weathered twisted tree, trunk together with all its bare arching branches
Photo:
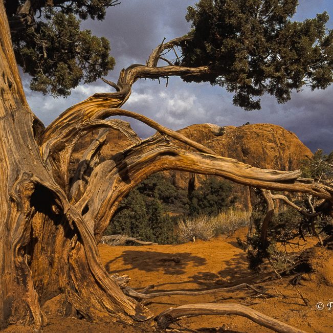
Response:
[{"label": "weathered twisted tree, trunk together with all its bare arching branches", "polygon": [[[34,1],[26,3],[33,4]],[[87,2],[53,3],[70,3],[80,10],[80,6]],[[224,3],[231,4],[229,1],[216,2],[216,6]],[[273,4],[267,1],[251,3],[258,4],[262,15],[266,13],[265,4]],[[283,9],[286,4],[296,2],[275,3],[273,9]],[[65,8],[71,10],[72,7]],[[268,18],[278,15],[273,9],[265,14]],[[257,17],[257,13],[251,15]],[[321,31],[325,21],[321,17],[307,24]],[[273,20],[276,27],[282,27],[283,22]],[[290,24],[286,19],[285,23]],[[235,34],[239,35],[237,31]],[[122,198],[154,172],[177,169],[213,174],[247,186],[310,193],[327,202],[333,201],[330,186],[300,178],[299,170],[263,170],[216,156],[212,150],[177,132],[121,109],[130,96],[132,84],[140,78],[181,76],[201,79],[207,75],[223,78],[225,74],[219,67],[210,63],[189,66],[177,59],[174,62],[167,60],[170,62],[167,66],[158,66],[164,51],[185,47],[185,43],[192,42],[193,38],[189,35],[162,43],[151,53],[146,65],[131,65],[121,71],[117,83],[108,82],[116,92],[95,94],[79,102],[45,128],[26,101],[4,2],[0,1],[0,328],[8,323],[20,323],[39,329],[47,321],[41,310],[42,304],[59,294],[64,296],[62,307],[67,313],[76,310],[88,320],[132,323],[152,317],[146,307],[121,291],[117,279],[107,274],[99,258],[97,243]],[[288,40],[283,34],[275,38],[279,38],[279,44]],[[309,42],[319,53],[325,50],[329,53],[329,38],[331,34]],[[323,51],[320,43],[324,41],[326,49]],[[246,41],[243,42],[246,45]],[[268,55],[266,59],[273,58]],[[295,65],[298,64],[296,59],[297,54]],[[310,76],[312,68],[317,66],[318,58],[313,61],[303,65],[302,69],[306,69],[304,77]],[[331,62],[326,60],[320,65],[326,69]],[[284,68],[283,63],[281,66]],[[293,73],[285,69],[285,75],[291,77]],[[267,78],[260,82],[264,84]],[[126,123],[106,120],[115,115],[138,119],[155,128],[158,134],[140,141]],[[70,182],[68,169],[73,148],[79,138],[96,128],[120,130],[134,144],[112,159],[101,162],[98,150],[105,140],[103,130],[85,151]],[[184,151],[168,137],[199,152]]]}]

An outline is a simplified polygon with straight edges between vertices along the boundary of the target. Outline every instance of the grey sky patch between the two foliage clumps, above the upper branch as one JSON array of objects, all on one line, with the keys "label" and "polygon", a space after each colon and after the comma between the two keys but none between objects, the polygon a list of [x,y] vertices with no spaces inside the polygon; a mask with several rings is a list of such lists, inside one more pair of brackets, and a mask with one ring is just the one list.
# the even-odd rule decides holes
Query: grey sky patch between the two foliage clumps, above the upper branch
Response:
[{"label": "grey sky patch between the two foliage clumps, above the upper branch", "polygon": [[117,69],[131,63],[145,63],[149,53],[164,37],[171,39],[189,31],[185,20],[190,0],[124,0],[107,10],[104,21],[84,22],[98,36],[109,38]]}]

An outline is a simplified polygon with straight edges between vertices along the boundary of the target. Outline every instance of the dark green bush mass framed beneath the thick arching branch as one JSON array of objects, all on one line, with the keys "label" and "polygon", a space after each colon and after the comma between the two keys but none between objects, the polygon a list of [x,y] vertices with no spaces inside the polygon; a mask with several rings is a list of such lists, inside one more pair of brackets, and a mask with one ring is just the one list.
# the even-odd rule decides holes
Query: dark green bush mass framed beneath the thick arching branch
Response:
[{"label": "dark green bush mass framed beneath the thick arching branch", "polygon": [[174,227],[179,218],[216,215],[234,201],[230,198],[231,189],[226,181],[209,177],[188,199],[187,192],[175,188],[171,179],[161,173],[152,174],[123,199],[106,234],[124,234],[160,244],[174,243]]}]

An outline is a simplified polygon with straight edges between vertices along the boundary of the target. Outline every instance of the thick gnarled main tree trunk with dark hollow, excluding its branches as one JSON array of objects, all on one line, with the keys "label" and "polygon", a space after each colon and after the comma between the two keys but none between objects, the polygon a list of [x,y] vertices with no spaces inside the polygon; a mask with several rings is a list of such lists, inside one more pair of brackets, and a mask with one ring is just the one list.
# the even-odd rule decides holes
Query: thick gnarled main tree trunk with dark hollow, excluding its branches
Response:
[{"label": "thick gnarled main tree trunk with dark hollow, excluding its branches", "polygon": [[82,315],[132,322],[150,318],[103,268],[93,235],[42,159],[43,130],[18,74],[0,2],[0,329],[46,323],[41,304],[64,293]]}]

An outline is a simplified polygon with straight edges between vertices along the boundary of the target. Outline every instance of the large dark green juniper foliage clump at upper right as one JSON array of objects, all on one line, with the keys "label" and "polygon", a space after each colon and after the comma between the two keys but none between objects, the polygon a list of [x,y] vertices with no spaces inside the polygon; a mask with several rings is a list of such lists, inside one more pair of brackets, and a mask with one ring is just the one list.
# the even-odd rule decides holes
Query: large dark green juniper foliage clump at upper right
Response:
[{"label": "large dark green juniper foliage clump at upper right", "polygon": [[333,79],[329,17],[291,21],[297,6],[297,0],[201,0],[188,7],[192,40],[182,46],[182,64],[209,65],[217,75],[183,79],[226,87],[246,110],[260,108],[256,97],[264,93],[284,103],[304,85],[326,88]]}]

